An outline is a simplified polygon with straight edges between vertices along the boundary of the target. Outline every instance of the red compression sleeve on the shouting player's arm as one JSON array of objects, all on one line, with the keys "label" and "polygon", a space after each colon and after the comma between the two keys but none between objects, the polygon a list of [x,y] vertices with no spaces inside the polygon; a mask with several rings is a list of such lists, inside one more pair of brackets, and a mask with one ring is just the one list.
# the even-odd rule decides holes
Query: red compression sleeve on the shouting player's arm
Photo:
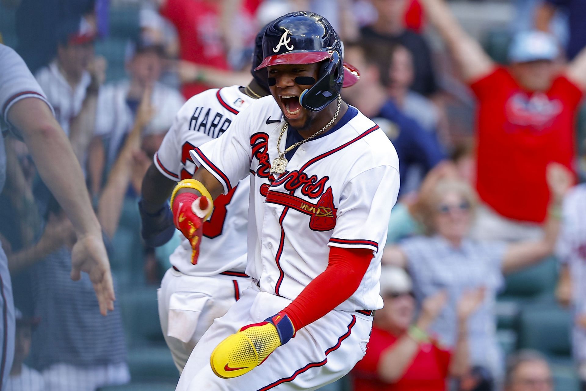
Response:
[{"label": "red compression sleeve on the shouting player's arm", "polygon": [[315,322],[356,292],[372,260],[372,250],[331,247],[328,267],[283,312],[295,330]]}]

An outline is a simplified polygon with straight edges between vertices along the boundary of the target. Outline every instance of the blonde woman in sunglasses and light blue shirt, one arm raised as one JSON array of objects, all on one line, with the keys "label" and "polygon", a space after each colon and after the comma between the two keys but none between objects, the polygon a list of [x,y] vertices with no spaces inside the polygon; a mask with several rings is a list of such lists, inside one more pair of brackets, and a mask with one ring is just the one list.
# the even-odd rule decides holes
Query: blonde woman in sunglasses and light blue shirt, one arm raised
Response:
[{"label": "blonde woman in sunglasses and light blue shirt, one arm raised", "polygon": [[539,240],[509,243],[470,239],[477,205],[475,194],[468,183],[444,178],[422,193],[414,208],[426,235],[410,237],[384,249],[383,264],[410,271],[418,302],[447,289],[450,300],[430,330],[448,346],[455,346],[458,335],[458,299],[469,288],[486,287],[484,302],[469,322],[469,353],[473,365],[489,369],[496,379],[503,376],[494,315],[503,273],[517,271],[551,255],[560,229],[561,200],[573,183],[573,174],[563,165],[551,163],[547,183],[550,207]]}]

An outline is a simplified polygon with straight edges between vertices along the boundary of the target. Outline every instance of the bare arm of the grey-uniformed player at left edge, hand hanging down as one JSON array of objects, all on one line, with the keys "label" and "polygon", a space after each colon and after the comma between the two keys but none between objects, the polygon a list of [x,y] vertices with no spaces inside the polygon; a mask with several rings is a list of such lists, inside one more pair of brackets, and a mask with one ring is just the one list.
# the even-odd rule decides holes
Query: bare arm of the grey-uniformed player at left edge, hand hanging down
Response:
[{"label": "bare arm of the grey-uniformed player at left edge, hand hanging down", "polygon": [[114,309],[114,287],[100,223],[91,206],[83,172],[67,136],[47,104],[37,98],[17,101],[8,121],[21,132],[39,175],[71,220],[77,243],[71,256],[71,278],[85,271],[96,290],[100,312]]}]

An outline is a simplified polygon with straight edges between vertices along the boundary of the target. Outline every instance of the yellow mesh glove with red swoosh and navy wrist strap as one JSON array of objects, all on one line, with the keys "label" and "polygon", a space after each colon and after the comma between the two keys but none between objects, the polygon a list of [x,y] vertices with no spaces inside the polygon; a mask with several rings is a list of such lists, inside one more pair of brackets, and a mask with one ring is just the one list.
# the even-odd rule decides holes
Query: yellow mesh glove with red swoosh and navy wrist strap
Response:
[{"label": "yellow mesh glove with red swoosh and navy wrist strap", "polygon": [[212,370],[223,379],[244,375],[294,335],[291,319],[283,312],[264,322],[244,326],[216,346],[210,357]]}]

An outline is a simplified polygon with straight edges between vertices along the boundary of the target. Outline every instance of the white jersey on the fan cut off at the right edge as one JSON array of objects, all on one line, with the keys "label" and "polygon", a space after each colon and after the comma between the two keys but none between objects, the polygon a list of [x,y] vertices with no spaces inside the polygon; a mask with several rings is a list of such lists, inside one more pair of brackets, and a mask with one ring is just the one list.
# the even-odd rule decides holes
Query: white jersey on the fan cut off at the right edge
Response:
[{"label": "white jersey on the fan cut off at the right edge", "polygon": [[[564,199],[563,223],[558,237],[556,255],[570,268],[573,312],[575,317],[586,314],[586,184],[574,186]],[[574,322],[574,358],[586,362],[586,329]]]}]

